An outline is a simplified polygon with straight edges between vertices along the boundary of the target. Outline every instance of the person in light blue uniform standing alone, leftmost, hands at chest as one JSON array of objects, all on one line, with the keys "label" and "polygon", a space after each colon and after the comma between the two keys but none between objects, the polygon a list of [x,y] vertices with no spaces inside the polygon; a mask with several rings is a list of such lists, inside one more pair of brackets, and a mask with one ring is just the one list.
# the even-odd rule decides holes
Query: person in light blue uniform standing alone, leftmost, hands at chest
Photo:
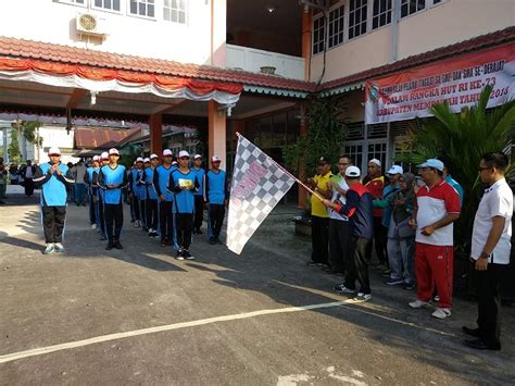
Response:
[{"label": "person in light blue uniform standing alone, leftmost, hands at chest", "polygon": [[61,163],[61,151],[51,147],[48,151],[50,162],[40,165],[34,175],[34,184],[41,188],[41,212],[47,247],[45,254],[64,252],[63,231],[66,221],[66,187],[75,180],[68,167]]}]

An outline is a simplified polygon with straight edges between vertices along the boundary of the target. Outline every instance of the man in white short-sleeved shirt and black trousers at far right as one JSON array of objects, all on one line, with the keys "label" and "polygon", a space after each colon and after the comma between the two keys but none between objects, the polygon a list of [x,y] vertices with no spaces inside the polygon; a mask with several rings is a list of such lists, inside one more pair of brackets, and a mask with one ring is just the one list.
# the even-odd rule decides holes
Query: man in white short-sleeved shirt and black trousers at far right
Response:
[{"label": "man in white short-sleeved shirt and black trousers at far right", "polygon": [[478,327],[463,326],[463,332],[477,338],[465,344],[479,350],[501,349],[500,292],[512,248],[513,192],[504,178],[507,164],[504,153],[493,152],[482,157],[478,169],[481,182],[489,186],[476,212],[470,249],[477,284]]}]

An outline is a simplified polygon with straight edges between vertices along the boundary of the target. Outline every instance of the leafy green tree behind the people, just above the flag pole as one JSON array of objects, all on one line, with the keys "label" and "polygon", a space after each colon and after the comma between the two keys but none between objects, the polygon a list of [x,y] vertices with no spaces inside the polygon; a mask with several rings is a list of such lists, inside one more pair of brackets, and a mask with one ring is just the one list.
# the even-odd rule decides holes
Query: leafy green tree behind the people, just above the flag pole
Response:
[{"label": "leafy green tree behind the people, just above the flag pole", "polygon": [[287,167],[299,173],[303,164],[305,175],[314,175],[319,157],[329,157],[336,162],[347,136],[346,110],[346,105],[336,97],[311,99],[307,104],[307,133],[282,148]]}]

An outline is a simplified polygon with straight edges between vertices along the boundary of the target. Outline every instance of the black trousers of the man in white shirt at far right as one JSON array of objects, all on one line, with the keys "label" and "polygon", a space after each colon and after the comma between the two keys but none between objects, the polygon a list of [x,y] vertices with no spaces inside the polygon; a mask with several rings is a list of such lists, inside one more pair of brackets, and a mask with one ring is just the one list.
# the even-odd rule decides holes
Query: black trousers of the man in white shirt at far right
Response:
[{"label": "black trousers of the man in white shirt at far right", "polygon": [[474,270],[477,285],[477,325],[489,347],[501,348],[501,286],[507,265],[488,264],[487,271]]}]

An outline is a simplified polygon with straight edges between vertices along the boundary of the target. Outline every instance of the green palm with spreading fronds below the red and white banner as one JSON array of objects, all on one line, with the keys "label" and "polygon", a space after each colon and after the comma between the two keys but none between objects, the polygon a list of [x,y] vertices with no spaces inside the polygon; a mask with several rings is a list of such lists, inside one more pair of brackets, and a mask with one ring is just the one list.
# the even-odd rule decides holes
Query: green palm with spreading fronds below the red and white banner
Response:
[{"label": "green palm with spreading fronds below the red and white banner", "polygon": [[491,151],[507,151],[515,134],[515,101],[487,110],[492,87],[487,86],[476,105],[453,113],[447,102],[430,110],[436,120],[423,123],[411,134],[413,152],[399,161],[420,163],[445,154],[452,163],[452,176],[465,196],[457,221],[455,245],[468,253],[474,216],[481,196],[477,167],[481,157]]}]

